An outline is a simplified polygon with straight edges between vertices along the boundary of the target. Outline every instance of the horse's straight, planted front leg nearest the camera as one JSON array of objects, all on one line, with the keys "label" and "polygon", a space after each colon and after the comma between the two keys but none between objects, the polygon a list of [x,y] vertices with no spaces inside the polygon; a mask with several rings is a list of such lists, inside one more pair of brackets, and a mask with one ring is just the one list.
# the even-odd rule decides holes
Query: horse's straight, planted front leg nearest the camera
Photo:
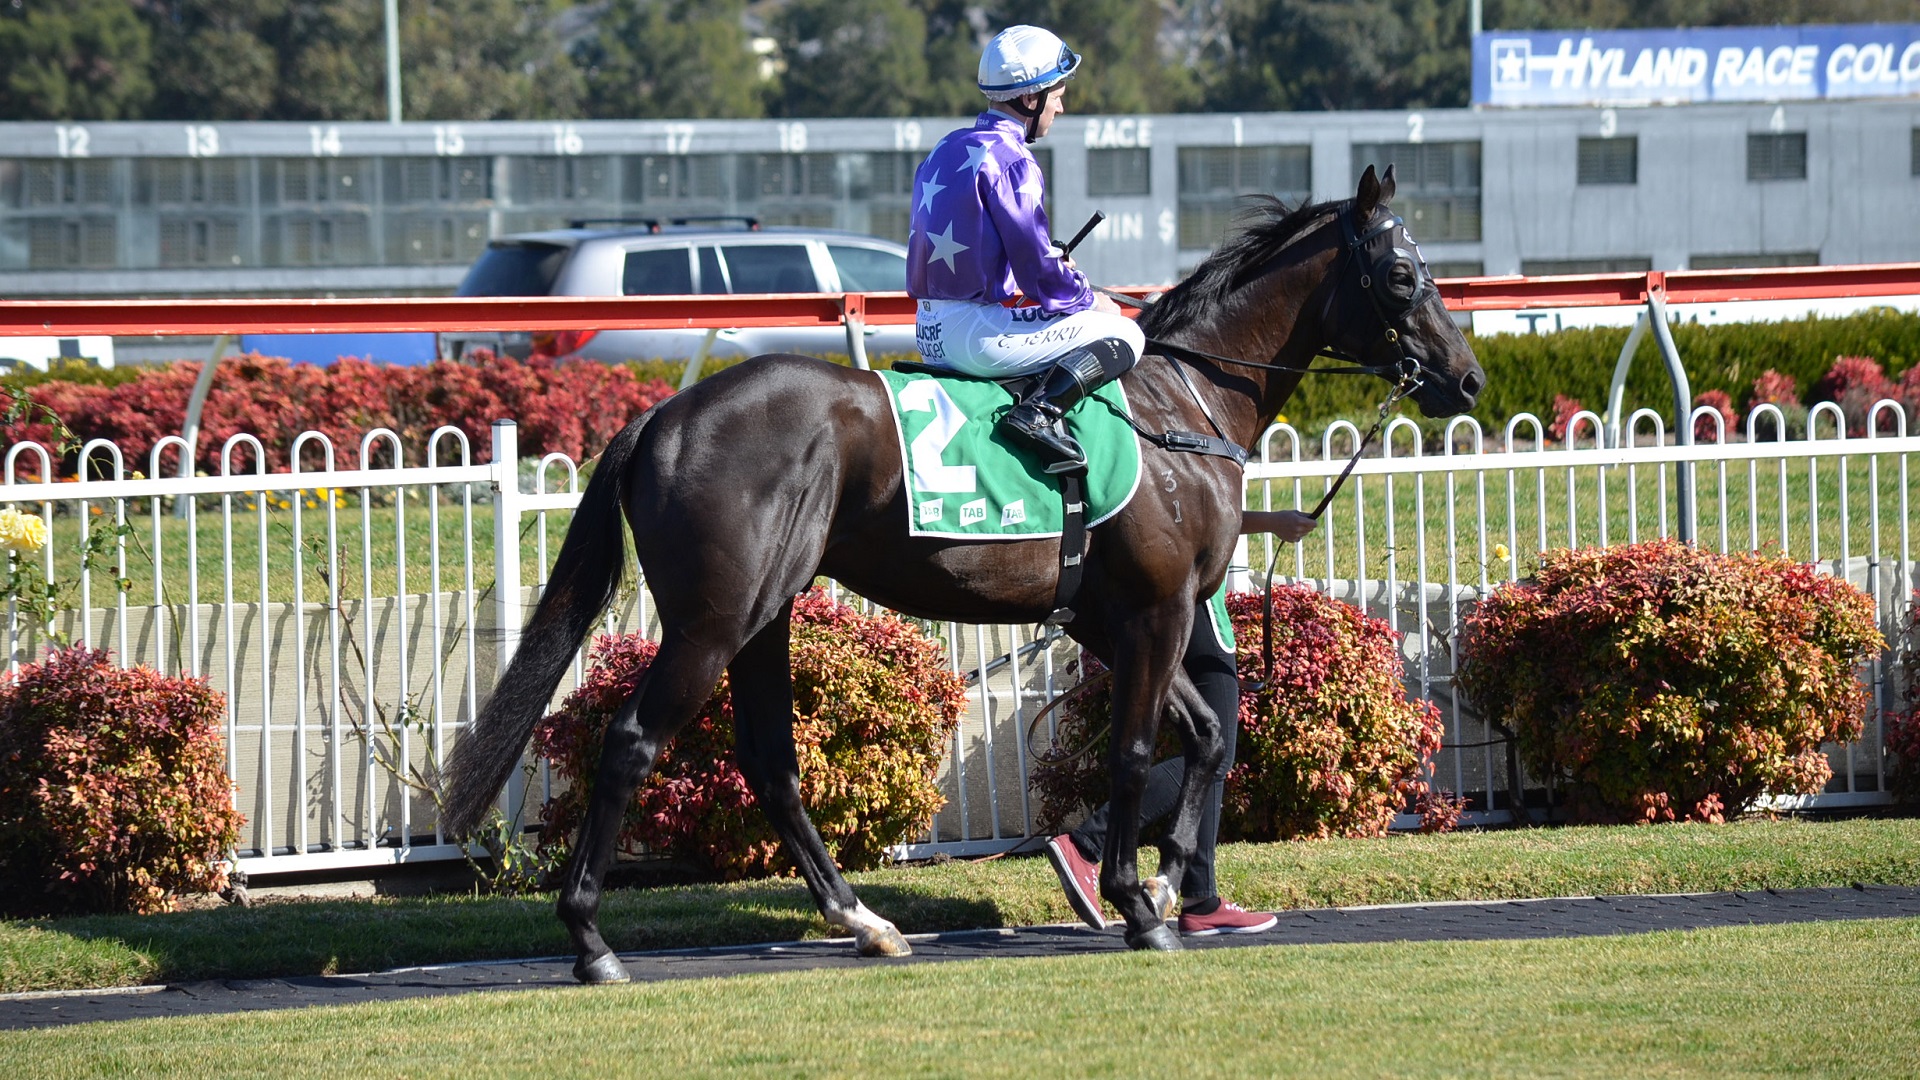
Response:
[{"label": "horse's straight, planted front leg nearest the camera", "polygon": [[[1140,794],[1154,765],[1160,711],[1187,642],[1192,607],[1171,603],[1144,611],[1114,634],[1114,780],[1100,855],[1100,896],[1127,920],[1127,944],[1135,949],[1179,949],[1181,940],[1167,922],[1165,909],[1148,896],[1139,878]],[[1183,786],[1185,794],[1185,786]]]}]

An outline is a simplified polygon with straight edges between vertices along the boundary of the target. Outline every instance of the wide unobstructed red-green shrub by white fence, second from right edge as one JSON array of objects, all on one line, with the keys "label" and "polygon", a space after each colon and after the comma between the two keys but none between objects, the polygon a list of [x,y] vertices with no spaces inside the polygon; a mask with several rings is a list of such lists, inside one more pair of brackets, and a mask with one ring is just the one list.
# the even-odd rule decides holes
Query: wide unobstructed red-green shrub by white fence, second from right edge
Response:
[{"label": "wide unobstructed red-green shrub by white fence, second from right edge", "polygon": [[1872,601],[1791,559],[1651,540],[1540,555],[1465,621],[1455,684],[1574,821],[1720,821],[1814,794],[1860,734]]}]

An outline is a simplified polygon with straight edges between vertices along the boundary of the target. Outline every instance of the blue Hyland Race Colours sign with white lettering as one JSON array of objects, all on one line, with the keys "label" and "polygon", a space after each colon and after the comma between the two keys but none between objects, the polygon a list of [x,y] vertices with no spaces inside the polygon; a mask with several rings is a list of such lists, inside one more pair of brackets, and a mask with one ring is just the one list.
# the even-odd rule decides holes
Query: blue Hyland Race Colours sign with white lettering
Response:
[{"label": "blue Hyland Race Colours sign with white lettering", "polygon": [[1473,35],[1476,106],[1920,96],[1920,23]]}]

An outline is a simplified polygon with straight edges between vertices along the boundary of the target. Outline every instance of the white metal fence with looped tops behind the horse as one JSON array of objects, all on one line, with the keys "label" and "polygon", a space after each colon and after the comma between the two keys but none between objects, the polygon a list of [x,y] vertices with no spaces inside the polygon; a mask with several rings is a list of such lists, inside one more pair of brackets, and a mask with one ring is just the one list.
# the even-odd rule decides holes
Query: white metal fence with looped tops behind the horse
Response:
[{"label": "white metal fence with looped tops behind the horse", "polygon": [[[1784,417],[1770,419],[1784,432]],[[1920,436],[1905,434],[1893,402],[1876,405],[1870,429],[1882,421],[1891,434],[1847,438],[1839,409],[1816,405],[1805,438],[1670,446],[1659,415],[1642,409],[1609,446],[1601,419],[1582,413],[1549,448],[1534,417],[1501,432],[1459,417],[1425,436],[1398,419],[1321,528],[1281,550],[1275,577],[1311,582],[1404,634],[1407,686],[1440,705],[1455,746],[1434,782],[1473,798],[1469,821],[1501,821],[1513,805],[1503,755],[1452,694],[1465,609],[1524,577],[1540,550],[1682,536],[1722,552],[1770,544],[1843,575],[1874,596],[1893,640],[1916,584],[1908,457]],[[1250,505],[1309,507],[1357,436],[1336,423],[1313,455],[1275,427],[1246,471]],[[171,471],[163,465],[182,448],[165,440],[146,475]],[[447,749],[511,655],[557,550],[555,515],[578,503],[576,467],[520,457],[511,421],[493,425],[486,465],[451,427],[415,465],[390,430],[355,448],[309,432],[290,450],[292,465],[269,471],[265,448],[234,436],[219,475],[148,479],[92,442],[83,454],[102,479],[42,482],[48,452],[17,444],[0,505],[38,513],[52,532],[33,559],[63,590],[61,634],[121,663],[207,676],[227,694],[252,874],[459,857],[430,799],[397,776]],[[1271,553],[1267,538],[1250,538],[1233,584],[1248,588]],[[649,625],[643,588],[607,617],[607,628]],[[947,807],[906,851],[1006,849],[1035,826],[1027,726],[1071,684],[1073,648],[1033,626],[939,632],[972,703],[941,771]],[[44,634],[10,605],[10,663],[40,648]],[[1830,748],[1834,784],[1795,805],[1887,799],[1880,748],[1895,688],[1884,661],[1864,678],[1866,736]]]}]

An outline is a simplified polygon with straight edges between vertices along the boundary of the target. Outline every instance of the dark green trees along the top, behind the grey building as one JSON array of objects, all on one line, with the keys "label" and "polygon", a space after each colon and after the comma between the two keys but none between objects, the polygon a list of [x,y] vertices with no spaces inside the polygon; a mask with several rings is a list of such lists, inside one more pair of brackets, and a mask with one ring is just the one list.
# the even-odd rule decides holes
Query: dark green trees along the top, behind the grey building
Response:
[{"label": "dark green trees along the top, behind the grey building", "polygon": [[[399,0],[409,119],[968,115],[1035,23],[1091,111],[1457,108],[1471,0]],[[1486,29],[1908,21],[1912,0],[1486,0]],[[768,48],[770,46],[770,48]],[[374,0],[4,0],[0,119],[380,119]]]}]

